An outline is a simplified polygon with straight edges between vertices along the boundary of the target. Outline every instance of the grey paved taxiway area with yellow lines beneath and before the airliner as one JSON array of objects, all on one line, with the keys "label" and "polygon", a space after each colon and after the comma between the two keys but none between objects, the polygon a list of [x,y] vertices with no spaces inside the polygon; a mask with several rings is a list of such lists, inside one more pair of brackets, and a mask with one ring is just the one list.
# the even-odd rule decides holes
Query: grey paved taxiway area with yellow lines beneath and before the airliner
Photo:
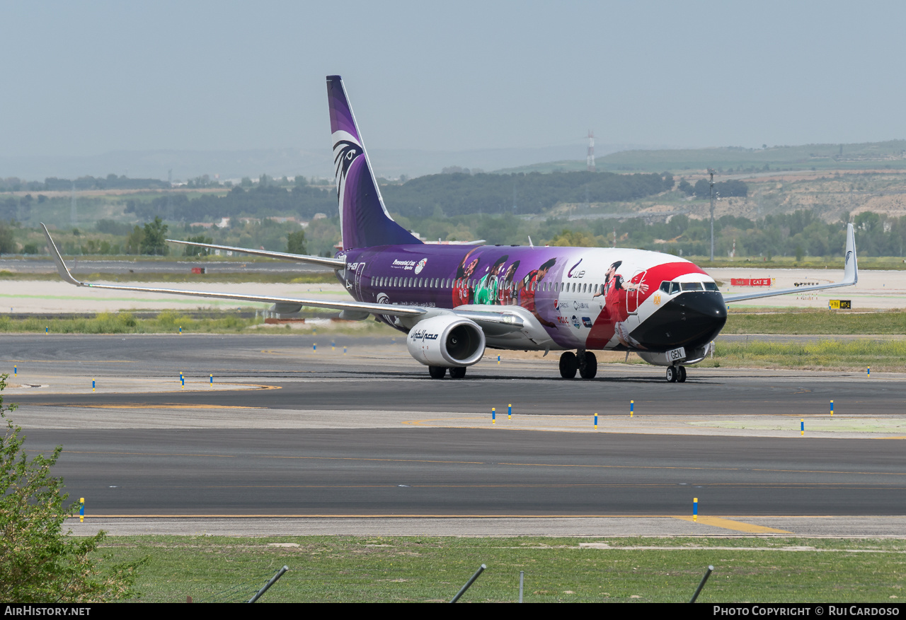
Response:
[{"label": "grey paved taxiway area with yellow lines beneath and before the airliner", "polygon": [[[603,365],[566,381],[554,356],[505,353],[436,381],[401,339],[313,338],[5,336],[23,386],[5,400],[31,449],[63,444],[72,497],[125,529],[901,531],[906,377],[692,368],[667,384]],[[694,498],[710,522],[686,520]]]}]

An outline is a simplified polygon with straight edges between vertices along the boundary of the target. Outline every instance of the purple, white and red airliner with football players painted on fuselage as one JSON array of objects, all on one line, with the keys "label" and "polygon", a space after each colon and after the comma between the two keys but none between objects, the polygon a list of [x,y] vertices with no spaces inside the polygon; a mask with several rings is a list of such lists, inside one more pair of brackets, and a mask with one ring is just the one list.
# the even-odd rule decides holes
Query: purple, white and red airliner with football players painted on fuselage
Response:
[{"label": "purple, white and red airliner with football players painted on fuselage", "polygon": [[342,79],[327,76],[342,250],[333,258],[169,239],[333,268],[351,301],[306,300],[78,281],[47,227],[57,271],[76,286],[226,300],[265,301],[291,314],[303,306],[340,310],[345,320],[375,320],[407,334],[410,355],[430,377],[466,376],[486,348],[562,351],[560,375],[591,379],[594,350],[635,352],[666,367],[670,383],[706,358],[727,321],[728,303],[821,291],[858,281],[853,224],[847,225],[843,280],[793,289],[722,295],[696,264],[626,248],[423,243],[397,224],[381,197]]}]

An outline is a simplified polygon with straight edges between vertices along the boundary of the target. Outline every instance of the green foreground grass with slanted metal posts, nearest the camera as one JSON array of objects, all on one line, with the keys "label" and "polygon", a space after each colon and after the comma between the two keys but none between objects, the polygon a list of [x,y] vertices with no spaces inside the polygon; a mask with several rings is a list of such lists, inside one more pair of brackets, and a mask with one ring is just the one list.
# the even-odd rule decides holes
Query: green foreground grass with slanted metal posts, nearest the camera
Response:
[{"label": "green foreground grass with slanted metal posts, nearest the camera", "polygon": [[[589,541],[612,548],[579,548]],[[823,551],[781,550],[794,546]],[[247,600],[284,565],[262,602],[440,602],[482,563],[462,602],[515,602],[519,571],[525,602],[686,602],[708,565],[700,603],[906,596],[906,541],[896,539],[146,536],[110,538],[102,550],[116,562],[149,558],[138,589],[153,602]]]}]

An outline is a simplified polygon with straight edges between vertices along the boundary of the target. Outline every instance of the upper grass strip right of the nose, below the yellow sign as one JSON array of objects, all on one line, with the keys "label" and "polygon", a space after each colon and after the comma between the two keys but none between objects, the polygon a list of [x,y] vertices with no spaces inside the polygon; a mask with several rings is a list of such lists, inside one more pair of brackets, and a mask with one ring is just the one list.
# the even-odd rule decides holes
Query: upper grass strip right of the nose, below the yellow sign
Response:
[{"label": "upper grass strip right of the nose, below the yellow sign", "polygon": [[904,334],[906,312],[850,312],[848,310],[741,310],[727,316],[724,334]]}]

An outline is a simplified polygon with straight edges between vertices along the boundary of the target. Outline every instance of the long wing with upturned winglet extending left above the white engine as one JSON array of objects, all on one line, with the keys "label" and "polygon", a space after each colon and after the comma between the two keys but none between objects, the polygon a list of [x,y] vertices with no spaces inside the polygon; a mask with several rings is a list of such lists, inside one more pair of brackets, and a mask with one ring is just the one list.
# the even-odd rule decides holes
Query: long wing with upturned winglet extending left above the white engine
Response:
[{"label": "long wing with upturned winglet extending left above the white engine", "polygon": [[140,286],[119,286],[115,284],[93,284],[83,282],[72,277],[72,273],[63,262],[63,256],[57,249],[56,243],[53,243],[51,234],[47,231],[47,226],[41,224],[44,230],[44,236],[47,238],[47,245],[52,250],[53,260],[57,265],[57,272],[64,281],[76,286],[84,286],[92,289],[110,289],[114,291],[140,291],[167,293],[169,295],[188,295],[190,297],[207,297],[218,300],[237,300],[237,301],[264,301],[268,303],[284,304],[286,306],[310,306],[313,308],[327,308],[330,310],[352,310],[367,312],[369,314],[385,314],[390,316],[417,316],[427,313],[428,310],[418,306],[396,306],[384,303],[365,303],[361,301],[328,301],[328,300],[304,300],[292,297],[268,297],[263,295],[240,295],[237,293],[211,292],[211,291],[181,291],[177,289],[158,289]]}]

